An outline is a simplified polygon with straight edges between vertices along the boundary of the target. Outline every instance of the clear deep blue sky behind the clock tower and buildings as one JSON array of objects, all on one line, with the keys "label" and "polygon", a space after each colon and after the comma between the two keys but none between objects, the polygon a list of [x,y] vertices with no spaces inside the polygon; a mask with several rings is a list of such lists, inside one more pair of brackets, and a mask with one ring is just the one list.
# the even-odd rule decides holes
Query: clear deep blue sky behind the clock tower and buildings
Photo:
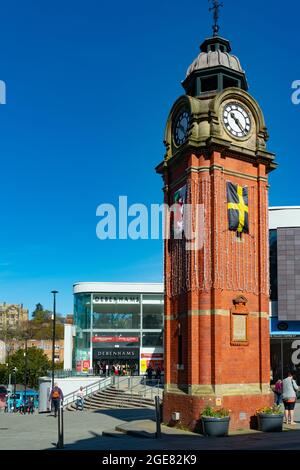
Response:
[{"label": "clear deep blue sky behind the clock tower and buildings", "polygon": [[[300,205],[298,2],[224,0],[220,34],[246,70],[279,168],[270,203]],[[211,35],[198,0],[1,4],[0,301],[72,312],[78,281],[162,280],[162,243],[100,241],[96,208],[162,200],[154,167],[181,80]]]}]

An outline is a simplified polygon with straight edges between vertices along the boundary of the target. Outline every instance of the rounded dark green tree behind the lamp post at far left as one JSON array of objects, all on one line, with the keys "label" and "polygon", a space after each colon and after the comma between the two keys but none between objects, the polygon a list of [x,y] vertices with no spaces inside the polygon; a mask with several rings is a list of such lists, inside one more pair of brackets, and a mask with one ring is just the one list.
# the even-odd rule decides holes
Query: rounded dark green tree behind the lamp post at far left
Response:
[{"label": "rounded dark green tree behind the lamp post at far left", "polygon": [[[17,383],[23,383],[25,374],[24,349],[19,349],[9,358],[8,371],[6,374],[12,374],[14,367],[17,368]],[[50,368],[51,362],[41,349],[35,347],[27,349],[27,378],[29,387],[37,388],[39,377],[46,375]]]}]

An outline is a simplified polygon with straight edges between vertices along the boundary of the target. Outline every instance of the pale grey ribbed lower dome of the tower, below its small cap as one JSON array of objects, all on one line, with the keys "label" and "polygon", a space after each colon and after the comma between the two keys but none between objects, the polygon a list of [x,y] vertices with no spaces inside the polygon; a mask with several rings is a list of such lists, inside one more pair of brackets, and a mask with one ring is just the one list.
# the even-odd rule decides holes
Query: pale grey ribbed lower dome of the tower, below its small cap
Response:
[{"label": "pale grey ribbed lower dome of the tower, below its small cap", "polygon": [[236,70],[237,72],[244,73],[239,59],[229,54],[228,52],[223,52],[220,50],[201,52],[198,57],[193,61],[189,66],[186,76],[193,73],[195,70],[217,67],[222,65],[223,67],[228,67],[229,69]]}]

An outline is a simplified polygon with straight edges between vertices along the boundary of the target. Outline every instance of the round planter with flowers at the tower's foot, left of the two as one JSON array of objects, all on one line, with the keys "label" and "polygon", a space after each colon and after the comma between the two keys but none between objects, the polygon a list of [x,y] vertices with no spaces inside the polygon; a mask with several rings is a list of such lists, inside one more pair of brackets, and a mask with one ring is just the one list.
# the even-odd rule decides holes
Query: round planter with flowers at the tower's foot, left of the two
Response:
[{"label": "round planter with flowers at the tower's foot, left of the two", "polygon": [[227,436],[230,410],[207,406],[201,413],[202,429],[205,436]]}]

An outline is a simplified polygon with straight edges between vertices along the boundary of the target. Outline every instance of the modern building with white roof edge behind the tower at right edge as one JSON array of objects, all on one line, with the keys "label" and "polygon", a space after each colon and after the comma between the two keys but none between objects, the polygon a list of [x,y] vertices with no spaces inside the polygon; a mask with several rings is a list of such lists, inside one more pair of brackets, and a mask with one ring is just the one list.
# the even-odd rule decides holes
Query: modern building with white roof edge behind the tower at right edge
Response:
[{"label": "modern building with white roof edge behind the tower at right edge", "polygon": [[300,383],[300,206],[270,207],[269,229],[271,373]]}]

